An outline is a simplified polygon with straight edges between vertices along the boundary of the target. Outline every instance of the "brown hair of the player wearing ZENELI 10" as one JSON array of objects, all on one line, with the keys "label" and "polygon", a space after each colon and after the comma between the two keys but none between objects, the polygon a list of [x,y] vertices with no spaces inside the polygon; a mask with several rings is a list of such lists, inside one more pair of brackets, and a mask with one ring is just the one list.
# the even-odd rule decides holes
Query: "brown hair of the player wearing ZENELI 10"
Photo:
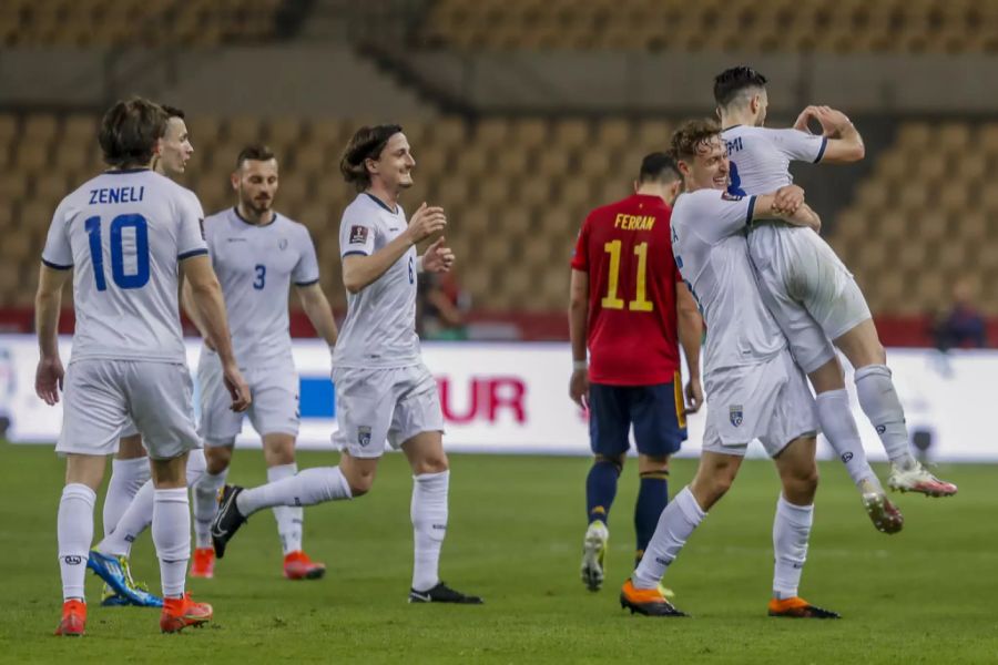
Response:
[{"label": "brown hair of the player wearing ZENELI 10", "polygon": [[104,162],[116,168],[145,166],[166,133],[166,112],[155,102],[134,96],[119,100],[101,119],[98,142]]}]

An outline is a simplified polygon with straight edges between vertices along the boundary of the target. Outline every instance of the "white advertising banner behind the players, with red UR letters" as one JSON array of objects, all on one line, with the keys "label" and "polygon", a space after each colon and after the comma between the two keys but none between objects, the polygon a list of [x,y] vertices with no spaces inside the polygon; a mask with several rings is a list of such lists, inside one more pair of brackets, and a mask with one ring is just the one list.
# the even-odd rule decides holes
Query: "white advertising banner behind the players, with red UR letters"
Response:
[{"label": "white advertising banner behind the players, with red UR letters", "polygon": [[[71,340],[61,340],[68,361]],[[187,361],[197,365],[200,345],[187,344]],[[296,339],[301,377],[302,448],[332,449],[336,405],[329,381],[329,352],[323,342]],[[445,446],[460,452],[589,454],[585,413],[568,398],[571,356],[567,344],[425,344],[424,358],[437,377],[447,423]],[[0,420],[17,443],[52,444],[62,421],[60,406],[34,395],[38,347],[30,336],[0,336]],[[998,461],[998,441],[988,420],[995,408],[998,351],[892,349],[888,364],[905,405],[908,427],[935,461]],[[852,391],[852,378],[846,379]],[[196,401],[195,388],[195,401]],[[196,408],[196,406],[195,406]],[[853,415],[874,460],[884,450],[853,393]],[[688,420],[681,457],[696,457],[704,413]],[[248,422],[241,446],[259,446]],[[819,454],[831,457],[826,442]],[[763,454],[754,444],[751,454]]]}]

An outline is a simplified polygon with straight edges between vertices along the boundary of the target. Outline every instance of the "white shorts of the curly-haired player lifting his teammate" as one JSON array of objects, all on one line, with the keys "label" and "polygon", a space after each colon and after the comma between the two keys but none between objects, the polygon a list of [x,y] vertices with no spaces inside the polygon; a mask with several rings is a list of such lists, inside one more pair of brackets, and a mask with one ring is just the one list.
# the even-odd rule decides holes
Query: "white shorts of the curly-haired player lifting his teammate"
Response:
[{"label": "white shorts of the curly-haired player lifting his teammate", "polygon": [[798,437],[818,432],[807,379],[786,350],[760,365],[707,375],[703,449],[744,456],[758,439],[770,457]]}]

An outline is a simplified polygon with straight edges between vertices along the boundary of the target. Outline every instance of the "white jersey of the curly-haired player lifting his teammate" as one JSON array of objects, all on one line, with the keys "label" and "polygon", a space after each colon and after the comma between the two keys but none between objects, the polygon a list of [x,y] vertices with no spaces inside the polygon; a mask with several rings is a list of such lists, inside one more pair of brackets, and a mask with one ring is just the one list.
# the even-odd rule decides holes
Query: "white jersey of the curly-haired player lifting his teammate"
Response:
[{"label": "white jersey of the curly-haired player lifting his teammate", "polygon": [[672,208],[675,265],[706,324],[709,379],[719,370],[765,362],[786,348],[748,260],[745,231],[754,207],[754,196],[697,190],[681,194]]}]

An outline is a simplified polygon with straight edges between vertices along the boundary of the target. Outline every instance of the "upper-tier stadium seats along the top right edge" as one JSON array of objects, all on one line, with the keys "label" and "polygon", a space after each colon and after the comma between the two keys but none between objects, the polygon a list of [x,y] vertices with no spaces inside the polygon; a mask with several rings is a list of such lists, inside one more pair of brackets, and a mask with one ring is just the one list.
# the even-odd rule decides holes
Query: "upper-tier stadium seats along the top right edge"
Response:
[{"label": "upper-tier stadium seats along the top right edge", "polygon": [[467,50],[998,51],[980,0],[438,0],[430,47]]}]

